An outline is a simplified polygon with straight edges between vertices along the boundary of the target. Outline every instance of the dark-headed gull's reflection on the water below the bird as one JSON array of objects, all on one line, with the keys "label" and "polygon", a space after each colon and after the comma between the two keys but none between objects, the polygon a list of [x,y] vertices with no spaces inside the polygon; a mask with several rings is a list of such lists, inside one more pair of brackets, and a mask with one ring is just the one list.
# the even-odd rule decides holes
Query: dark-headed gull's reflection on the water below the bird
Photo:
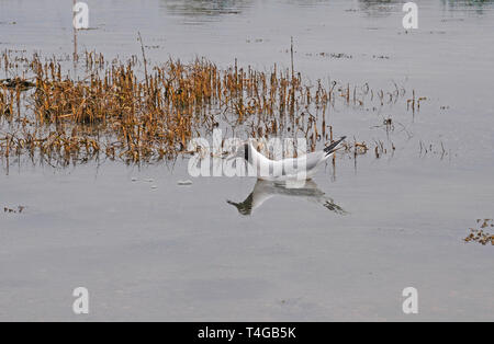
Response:
[{"label": "dark-headed gull's reflection on the water below the bird", "polygon": [[283,183],[258,180],[252,192],[244,202],[235,203],[227,200],[227,203],[235,206],[242,215],[251,215],[254,209],[260,207],[266,200],[277,195],[305,198],[336,214],[347,214],[332,198],[327,197],[313,181],[306,181],[303,187],[289,188]]}]

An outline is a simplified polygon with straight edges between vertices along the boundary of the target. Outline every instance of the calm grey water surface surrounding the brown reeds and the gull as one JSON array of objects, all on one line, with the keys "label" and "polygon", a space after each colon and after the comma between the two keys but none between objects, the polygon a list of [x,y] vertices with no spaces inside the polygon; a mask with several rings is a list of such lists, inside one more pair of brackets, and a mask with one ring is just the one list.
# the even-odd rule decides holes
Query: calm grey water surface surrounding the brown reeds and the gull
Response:
[{"label": "calm grey water surface surrounding the brown reeds and the gull", "polygon": [[[340,156],[303,192],[248,177],[179,186],[182,159],[3,161],[0,206],[26,208],[0,215],[0,320],[494,320],[493,248],[462,240],[494,216],[494,2],[417,1],[408,33],[400,1],[87,2],[79,50],[137,55],[141,32],[155,62],[269,70],[289,67],[293,36],[306,80],[396,82],[427,101],[415,114],[404,101],[335,108],[337,135],[396,150]],[[0,0],[0,49],[71,54],[70,4]],[[227,203],[251,193],[250,216]],[[72,313],[78,286],[89,316]],[[417,316],[402,312],[408,286]]]}]

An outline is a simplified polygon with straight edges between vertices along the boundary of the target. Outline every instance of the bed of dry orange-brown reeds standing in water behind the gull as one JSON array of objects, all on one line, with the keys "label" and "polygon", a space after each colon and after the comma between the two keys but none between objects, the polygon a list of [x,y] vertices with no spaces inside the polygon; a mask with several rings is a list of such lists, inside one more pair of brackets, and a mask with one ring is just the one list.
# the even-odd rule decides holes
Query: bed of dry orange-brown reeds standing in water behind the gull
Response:
[{"label": "bed of dry orange-brown reeds standing in water behind the gull", "polygon": [[[0,156],[35,156],[57,164],[103,156],[127,162],[151,162],[190,153],[193,137],[214,128],[238,137],[305,137],[311,150],[333,138],[328,111],[335,103],[382,106],[403,99],[390,92],[318,80],[304,83],[293,69],[269,72],[235,62],[220,69],[206,59],[169,60],[148,66],[144,58],[105,61],[87,51],[85,78],[63,70],[67,58],[42,60],[2,55],[0,68]],[[144,67],[144,71],[142,71]],[[14,77],[12,77],[14,76]],[[420,100],[407,100],[407,106]],[[378,147],[375,153],[383,153]],[[347,145],[362,153],[364,144]],[[393,148],[394,149],[394,148]]]}]

